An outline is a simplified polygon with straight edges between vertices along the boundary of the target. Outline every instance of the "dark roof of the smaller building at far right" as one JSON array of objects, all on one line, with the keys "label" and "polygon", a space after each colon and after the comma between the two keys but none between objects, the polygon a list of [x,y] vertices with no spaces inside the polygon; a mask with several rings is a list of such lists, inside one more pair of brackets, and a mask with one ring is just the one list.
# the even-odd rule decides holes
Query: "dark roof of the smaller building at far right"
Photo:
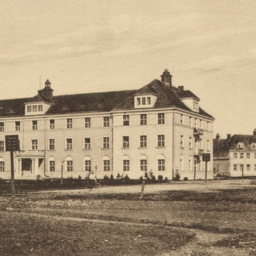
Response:
[{"label": "dark roof of the smaller building at far right", "polygon": [[251,150],[251,143],[256,143],[256,136],[234,134],[229,139],[213,139],[213,152],[238,150],[238,142],[243,143],[243,150]]}]

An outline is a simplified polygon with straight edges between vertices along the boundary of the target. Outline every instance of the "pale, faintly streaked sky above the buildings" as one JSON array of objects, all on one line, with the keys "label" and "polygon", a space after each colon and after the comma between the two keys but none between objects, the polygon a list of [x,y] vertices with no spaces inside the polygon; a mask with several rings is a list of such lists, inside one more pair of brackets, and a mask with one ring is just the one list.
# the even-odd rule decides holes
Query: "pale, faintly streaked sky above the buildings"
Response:
[{"label": "pale, faintly streaked sky above the buildings", "polygon": [[214,135],[256,128],[256,1],[0,1],[0,100],[139,89],[164,69]]}]

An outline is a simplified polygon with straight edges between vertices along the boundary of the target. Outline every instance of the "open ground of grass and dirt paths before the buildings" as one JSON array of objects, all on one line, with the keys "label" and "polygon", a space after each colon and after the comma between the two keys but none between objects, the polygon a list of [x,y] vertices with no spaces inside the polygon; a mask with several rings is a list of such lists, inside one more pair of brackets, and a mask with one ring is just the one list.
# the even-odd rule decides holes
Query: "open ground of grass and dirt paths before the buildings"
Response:
[{"label": "open ground of grass and dirt paths before the buildings", "polygon": [[256,255],[250,180],[1,196],[0,255]]}]

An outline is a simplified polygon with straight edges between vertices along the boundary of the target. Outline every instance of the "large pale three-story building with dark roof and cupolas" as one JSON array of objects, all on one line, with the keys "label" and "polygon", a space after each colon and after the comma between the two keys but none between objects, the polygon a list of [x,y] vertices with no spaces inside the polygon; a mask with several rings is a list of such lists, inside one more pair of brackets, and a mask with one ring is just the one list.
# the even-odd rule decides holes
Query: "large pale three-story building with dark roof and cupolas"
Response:
[{"label": "large pale three-story building with dark roof and cupolas", "polygon": [[[202,179],[203,152],[212,155],[212,115],[184,86],[172,86],[166,69],[162,81],[138,90],[53,96],[49,80],[32,98],[0,101],[0,177],[11,176],[5,135],[18,135],[15,179],[97,178],[128,175],[139,179],[152,171],[172,179]],[[212,178],[212,159],[208,177]]]}]

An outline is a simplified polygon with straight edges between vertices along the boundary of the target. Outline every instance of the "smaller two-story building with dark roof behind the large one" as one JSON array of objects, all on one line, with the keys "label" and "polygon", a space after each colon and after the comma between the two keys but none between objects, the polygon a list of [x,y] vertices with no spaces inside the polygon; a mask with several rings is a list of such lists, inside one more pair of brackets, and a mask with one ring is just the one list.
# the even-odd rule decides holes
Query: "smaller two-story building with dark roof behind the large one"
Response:
[{"label": "smaller two-story building with dark roof behind the large one", "polygon": [[234,134],[213,139],[213,172],[215,175],[256,176],[256,129],[253,135]]}]

